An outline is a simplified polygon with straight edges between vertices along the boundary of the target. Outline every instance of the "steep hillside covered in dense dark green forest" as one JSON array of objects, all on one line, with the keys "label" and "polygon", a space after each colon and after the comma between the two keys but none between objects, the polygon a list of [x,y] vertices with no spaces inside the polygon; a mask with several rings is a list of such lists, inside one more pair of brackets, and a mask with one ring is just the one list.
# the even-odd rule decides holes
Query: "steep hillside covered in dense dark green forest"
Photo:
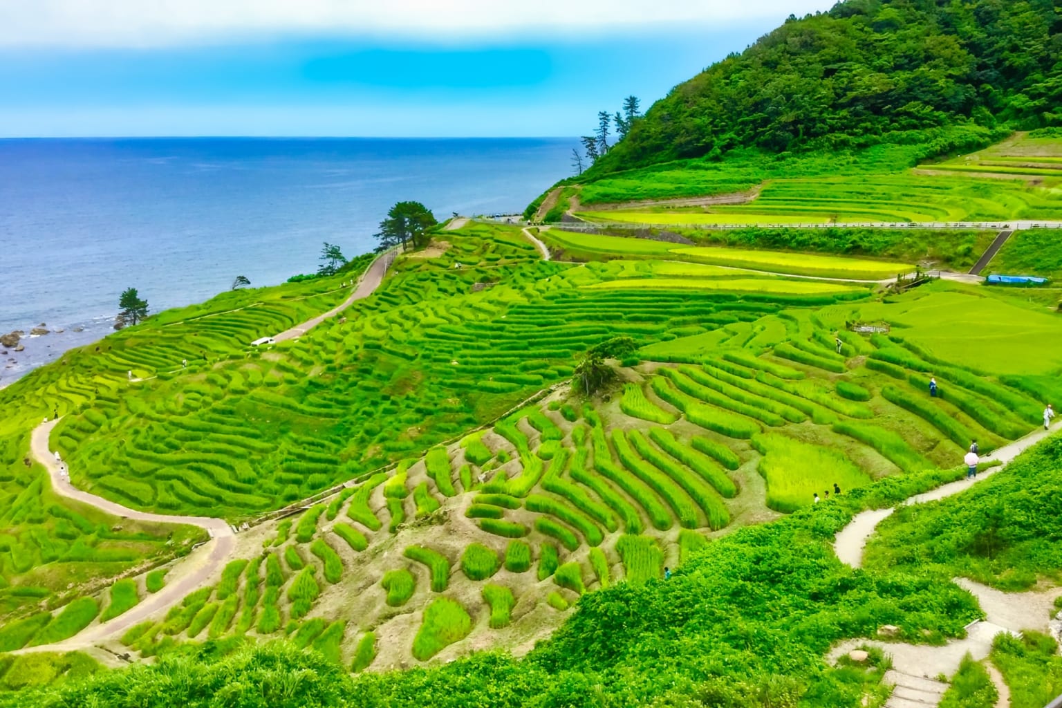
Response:
[{"label": "steep hillside covered in dense dark green forest", "polygon": [[[911,132],[943,126],[1062,125],[1060,56],[1058,0],[847,0],[790,17],[676,86],[583,179],[735,148],[859,148],[931,141]],[[971,146],[963,133],[949,132],[935,152]]]}]

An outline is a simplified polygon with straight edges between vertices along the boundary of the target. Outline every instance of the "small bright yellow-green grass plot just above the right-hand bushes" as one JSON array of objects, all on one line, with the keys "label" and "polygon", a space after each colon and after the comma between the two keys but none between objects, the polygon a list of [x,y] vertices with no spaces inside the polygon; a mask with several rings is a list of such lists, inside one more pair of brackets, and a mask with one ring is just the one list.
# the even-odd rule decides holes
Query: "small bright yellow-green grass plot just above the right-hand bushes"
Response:
[{"label": "small bright yellow-green grass plot just above the right-hand bushes", "polygon": [[794,512],[813,503],[812,495],[825,499],[834,484],[851,490],[870,482],[870,477],[838,450],[809,445],[780,433],[752,438],[763,457],[758,470],[767,481],[767,505],[778,512]]}]

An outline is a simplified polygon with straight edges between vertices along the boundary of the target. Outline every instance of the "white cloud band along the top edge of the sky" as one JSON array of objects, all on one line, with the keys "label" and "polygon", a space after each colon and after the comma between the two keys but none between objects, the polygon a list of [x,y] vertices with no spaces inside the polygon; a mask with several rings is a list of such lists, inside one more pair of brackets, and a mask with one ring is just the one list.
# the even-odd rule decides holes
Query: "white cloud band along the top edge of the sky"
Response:
[{"label": "white cloud band along the top edge of the sky", "polygon": [[441,42],[778,20],[833,0],[0,0],[0,47],[157,47],[275,35]]}]

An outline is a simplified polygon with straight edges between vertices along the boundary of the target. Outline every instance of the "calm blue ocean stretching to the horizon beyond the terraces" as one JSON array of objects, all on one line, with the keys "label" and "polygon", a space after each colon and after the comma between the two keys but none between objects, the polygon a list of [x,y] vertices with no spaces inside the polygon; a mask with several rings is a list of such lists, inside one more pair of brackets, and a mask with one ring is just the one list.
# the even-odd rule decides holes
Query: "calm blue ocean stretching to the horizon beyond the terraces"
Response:
[{"label": "calm blue ocean stretching to the horizon beyond the terraces", "polygon": [[[570,172],[573,138],[0,140],[0,386],[112,330],[136,288],[153,312],[350,257],[398,201],[520,212]],[[48,334],[30,336],[33,327]],[[62,330],[62,331],[57,331]],[[2,353],[6,351],[6,353]]]}]

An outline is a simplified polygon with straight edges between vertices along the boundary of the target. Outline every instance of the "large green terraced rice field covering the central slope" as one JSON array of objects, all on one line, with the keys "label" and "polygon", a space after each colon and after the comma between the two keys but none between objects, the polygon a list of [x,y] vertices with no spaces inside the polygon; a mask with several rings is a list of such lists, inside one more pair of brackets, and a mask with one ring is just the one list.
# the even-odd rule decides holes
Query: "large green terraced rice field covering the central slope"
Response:
[{"label": "large green terraced rice field covering the central slope", "polygon": [[[595,243],[628,241],[606,238]],[[962,328],[940,326],[955,297],[981,299],[969,291],[932,286],[883,305],[864,287],[735,277],[708,264],[543,262],[504,227],[448,239],[450,252],[399,260],[376,295],[299,340],[252,350],[234,335],[213,360],[172,370],[159,362],[142,382],[104,367],[78,385],[63,374],[76,367],[55,367],[24,384],[76,386],[52,443],[82,487],[234,521],[297,502],[287,518],[241,533],[206,586],[125,632],[130,650],[288,636],[360,671],[448,660],[474,645],[526,647],[586,592],[656,582],[717,535],[803,508],[835,482],[849,491],[954,467],[970,437],[988,451],[1031,430],[1043,373],[1062,365],[998,376],[1001,347],[976,360],[984,369],[972,365]],[[1038,320],[1046,315],[986,301],[1014,326],[1020,315],[1035,324],[1012,341],[1052,331]],[[892,313],[908,326],[891,339],[845,330]],[[138,346],[152,336],[144,326]],[[584,400],[556,385],[616,336],[638,349],[615,362],[606,395]],[[926,336],[933,346],[920,344]],[[930,375],[943,398],[928,397]],[[20,425],[39,417],[30,411]],[[12,480],[28,429],[0,437]],[[4,486],[16,504],[37,500],[0,555],[23,564],[4,566],[12,588],[56,568],[45,548],[73,533],[36,473]],[[41,515],[54,530],[35,538]],[[71,520],[95,537],[65,540],[59,557],[97,552],[114,534],[148,542],[114,525]],[[40,555],[27,562],[15,543],[31,541]],[[70,636],[101,612],[121,618],[170,582],[148,568],[115,582],[138,553],[93,567],[98,587],[50,590],[46,612],[8,605],[0,646]]]}]

